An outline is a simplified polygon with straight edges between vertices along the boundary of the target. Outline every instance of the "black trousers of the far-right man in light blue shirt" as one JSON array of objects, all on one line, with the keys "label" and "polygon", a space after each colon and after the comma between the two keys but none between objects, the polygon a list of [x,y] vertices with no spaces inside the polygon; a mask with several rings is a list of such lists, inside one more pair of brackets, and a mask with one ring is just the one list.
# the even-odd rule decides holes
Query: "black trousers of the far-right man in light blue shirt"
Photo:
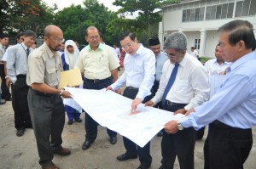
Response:
[{"label": "black trousers of the far-right man in light blue shirt", "polygon": [[[230,127],[220,121],[210,124],[205,144],[205,168],[242,169],[252,149],[252,129]],[[208,146],[208,147],[206,147]]]}]

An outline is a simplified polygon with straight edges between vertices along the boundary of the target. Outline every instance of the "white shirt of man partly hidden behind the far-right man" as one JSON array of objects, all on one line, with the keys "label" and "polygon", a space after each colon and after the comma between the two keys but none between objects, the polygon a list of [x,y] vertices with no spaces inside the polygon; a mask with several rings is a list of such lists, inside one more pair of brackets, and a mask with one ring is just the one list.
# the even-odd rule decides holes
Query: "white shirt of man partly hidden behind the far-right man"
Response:
[{"label": "white shirt of man partly hidden behind the far-right man", "polygon": [[229,64],[225,61],[219,65],[217,59],[209,59],[205,64],[205,68],[210,74],[211,72],[220,73],[221,71],[226,70],[228,66]]}]

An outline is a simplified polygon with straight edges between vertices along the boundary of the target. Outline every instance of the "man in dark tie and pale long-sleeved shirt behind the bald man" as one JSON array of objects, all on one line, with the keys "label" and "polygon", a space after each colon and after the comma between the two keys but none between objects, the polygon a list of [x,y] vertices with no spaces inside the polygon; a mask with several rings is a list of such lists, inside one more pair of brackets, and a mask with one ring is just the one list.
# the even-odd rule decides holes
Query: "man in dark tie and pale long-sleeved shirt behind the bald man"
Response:
[{"label": "man in dark tie and pale long-sleeved shirt behind the bald man", "polygon": [[12,82],[12,104],[15,111],[16,135],[23,136],[25,128],[32,128],[27,104],[29,87],[26,84],[27,58],[32,52],[36,33],[31,30],[24,32],[24,41],[9,48],[6,61],[7,76]]}]

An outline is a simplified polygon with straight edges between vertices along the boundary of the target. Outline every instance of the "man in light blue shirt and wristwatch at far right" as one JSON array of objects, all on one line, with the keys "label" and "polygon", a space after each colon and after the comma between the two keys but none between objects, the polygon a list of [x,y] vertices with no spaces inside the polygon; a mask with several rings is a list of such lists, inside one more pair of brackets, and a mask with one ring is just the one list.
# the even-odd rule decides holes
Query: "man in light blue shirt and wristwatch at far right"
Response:
[{"label": "man in light blue shirt and wristwatch at far right", "polygon": [[205,168],[241,169],[252,149],[252,127],[256,125],[253,25],[247,20],[222,25],[218,28],[218,42],[223,49],[223,59],[232,63],[226,70],[224,82],[209,101],[189,110],[188,116],[181,120],[169,121],[165,130],[175,133],[177,128],[199,129],[210,124]]}]

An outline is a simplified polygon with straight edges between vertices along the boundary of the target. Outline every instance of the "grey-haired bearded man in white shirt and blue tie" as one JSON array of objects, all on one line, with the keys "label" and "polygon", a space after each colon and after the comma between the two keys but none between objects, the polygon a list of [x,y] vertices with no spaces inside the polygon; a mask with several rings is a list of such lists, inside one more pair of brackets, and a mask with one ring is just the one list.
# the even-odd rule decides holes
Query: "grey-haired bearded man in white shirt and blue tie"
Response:
[{"label": "grey-haired bearded man in white shirt and blue tie", "polygon": [[[174,115],[184,114],[207,101],[210,92],[207,70],[186,52],[187,38],[183,33],[169,35],[164,48],[170,61],[163,66],[157,93],[146,105],[154,106],[162,101],[164,110],[174,112]],[[165,131],[161,142],[160,169],[173,168],[176,155],[180,168],[193,169],[195,134],[193,127],[180,127],[175,134]]]}]

